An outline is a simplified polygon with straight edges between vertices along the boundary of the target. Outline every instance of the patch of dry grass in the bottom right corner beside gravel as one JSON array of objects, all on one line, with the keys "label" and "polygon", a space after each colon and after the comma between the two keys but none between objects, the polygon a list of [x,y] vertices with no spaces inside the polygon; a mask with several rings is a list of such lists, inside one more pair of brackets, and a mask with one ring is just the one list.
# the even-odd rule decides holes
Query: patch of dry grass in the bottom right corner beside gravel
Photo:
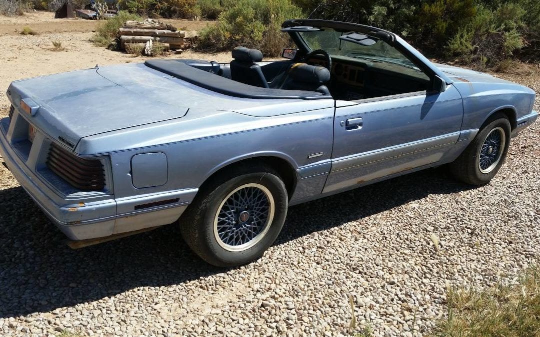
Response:
[{"label": "patch of dry grass in the bottom right corner beside gravel", "polygon": [[484,291],[448,287],[448,318],[437,336],[540,336],[540,269]]}]

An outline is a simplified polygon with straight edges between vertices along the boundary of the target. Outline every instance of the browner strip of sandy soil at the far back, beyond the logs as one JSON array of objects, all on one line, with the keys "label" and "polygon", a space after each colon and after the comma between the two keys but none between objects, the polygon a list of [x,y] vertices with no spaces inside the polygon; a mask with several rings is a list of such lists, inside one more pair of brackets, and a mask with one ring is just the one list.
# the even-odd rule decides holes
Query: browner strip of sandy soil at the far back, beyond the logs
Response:
[{"label": "browner strip of sandy soil at the far back, beyond the logs", "polygon": [[[201,30],[212,24],[206,20],[163,19],[178,29]],[[89,32],[96,29],[97,20],[55,19],[53,12],[27,12],[22,16],[0,16],[0,35],[18,35],[29,26],[37,33]]]}]

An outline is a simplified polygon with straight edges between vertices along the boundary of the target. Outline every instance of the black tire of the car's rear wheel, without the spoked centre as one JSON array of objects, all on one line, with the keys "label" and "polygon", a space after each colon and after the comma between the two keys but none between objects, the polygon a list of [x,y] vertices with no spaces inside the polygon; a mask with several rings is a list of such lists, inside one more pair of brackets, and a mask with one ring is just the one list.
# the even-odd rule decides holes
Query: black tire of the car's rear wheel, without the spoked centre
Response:
[{"label": "black tire of the car's rear wheel, without the spoked centre", "polygon": [[[215,232],[218,231],[217,227],[214,230],[214,226],[217,224],[214,221],[217,221],[215,217],[217,217],[218,210],[222,206],[226,206],[222,204],[225,202],[225,198],[235,189],[247,184],[264,192],[269,209],[271,198],[273,198],[273,218],[271,221],[266,221],[267,225],[261,230],[260,236],[256,236],[246,243],[251,242],[253,246],[241,251],[231,251],[228,249],[232,249],[233,245],[228,246],[224,240],[220,239],[220,234]],[[259,185],[265,189],[259,188]],[[268,192],[271,197],[267,195]],[[283,227],[287,208],[287,189],[279,174],[272,168],[263,165],[237,167],[234,170],[227,170],[205,183],[180,218],[180,230],[186,243],[207,263],[219,267],[239,266],[261,257],[272,245]],[[230,248],[227,249],[224,246]]]}]

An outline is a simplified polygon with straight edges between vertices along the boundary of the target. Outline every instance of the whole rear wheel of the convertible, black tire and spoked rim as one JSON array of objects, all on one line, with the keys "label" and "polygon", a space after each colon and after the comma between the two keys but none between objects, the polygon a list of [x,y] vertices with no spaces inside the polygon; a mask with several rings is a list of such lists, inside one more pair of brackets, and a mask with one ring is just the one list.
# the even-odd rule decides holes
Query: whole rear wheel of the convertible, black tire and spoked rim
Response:
[{"label": "whole rear wheel of the convertible, black tire and spoked rim", "polygon": [[181,218],[191,249],[216,266],[237,266],[259,258],[285,222],[288,195],[268,167],[244,167],[206,184]]}]

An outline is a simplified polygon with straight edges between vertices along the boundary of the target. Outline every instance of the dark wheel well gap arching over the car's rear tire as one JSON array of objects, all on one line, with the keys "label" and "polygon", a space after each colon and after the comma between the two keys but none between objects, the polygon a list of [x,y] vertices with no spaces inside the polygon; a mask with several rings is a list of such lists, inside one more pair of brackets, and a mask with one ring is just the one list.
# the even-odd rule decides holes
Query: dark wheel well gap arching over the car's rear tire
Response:
[{"label": "dark wheel well gap arching over the car's rear tire", "polygon": [[[298,180],[298,175],[296,174],[296,170],[293,168],[291,163],[289,163],[285,159],[281,159],[280,157],[274,157],[274,156],[254,157],[254,158],[244,159],[244,160],[240,160],[240,161],[228,164],[227,166],[224,166],[220,168],[219,170],[215,171],[210,177],[208,177],[206,181],[203,183],[203,186],[206,183],[212,181],[214,177],[222,174],[224,171],[231,171],[237,167],[249,166],[250,164],[259,164],[259,165],[265,164],[266,166],[273,168],[279,174],[279,176],[285,183],[285,187],[287,188],[287,194],[289,195],[289,199],[292,197],[294,189],[296,187],[296,181]],[[201,188],[203,186],[201,186]]]}]

